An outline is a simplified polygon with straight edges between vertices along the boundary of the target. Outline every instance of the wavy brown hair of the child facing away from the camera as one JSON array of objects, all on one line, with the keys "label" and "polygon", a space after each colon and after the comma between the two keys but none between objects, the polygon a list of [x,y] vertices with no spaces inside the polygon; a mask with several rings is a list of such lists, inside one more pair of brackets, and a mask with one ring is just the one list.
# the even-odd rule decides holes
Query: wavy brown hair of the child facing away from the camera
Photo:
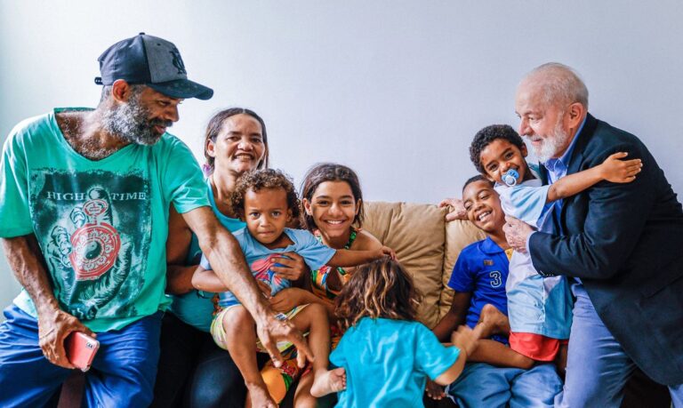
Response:
[{"label": "wavy brown hair of the child facing away from the camera", "polygon": [[337,296],[334,313],[343,330],[362,317],[412,321],[421,299],[406,269],[385,257],[356,269]]}]

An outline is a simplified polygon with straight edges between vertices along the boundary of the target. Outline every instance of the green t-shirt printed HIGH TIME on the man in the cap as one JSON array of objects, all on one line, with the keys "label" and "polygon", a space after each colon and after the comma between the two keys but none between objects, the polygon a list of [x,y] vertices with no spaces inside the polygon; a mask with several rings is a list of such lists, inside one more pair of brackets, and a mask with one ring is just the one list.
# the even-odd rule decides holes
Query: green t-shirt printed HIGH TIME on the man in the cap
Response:
[{"label": "green t-shirt printed HIGH TIME on the man in the cap", "polygon": [[[197,160],[165,133],[102,160],[79,155],[55,115],[27,119],[4,143],[0,236],[35,234],[60,308],[94,332],[163,310],[168,209],[208,205]],[[26,291],[14,303],[32,316]]]}]

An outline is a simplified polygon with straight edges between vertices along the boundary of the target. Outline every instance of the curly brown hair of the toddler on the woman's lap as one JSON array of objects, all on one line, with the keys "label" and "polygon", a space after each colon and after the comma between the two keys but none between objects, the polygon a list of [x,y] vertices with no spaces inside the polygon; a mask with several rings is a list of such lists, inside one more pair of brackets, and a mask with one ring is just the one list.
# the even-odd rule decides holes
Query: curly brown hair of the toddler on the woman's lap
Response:
[{"label": "curly brown hair of the toddler on the woman's lap", "polygon": [[292,210],[292,218],[299,219],[301,207],[296,196],[292,179],[284,172],[274,169],[259,169],[245,172],[237,179],[237,187],[230,195],[232,212],[245,219],[245,196],[247,191],[258,193],[262,189],[282,188],[287,195],[287,206]]}]

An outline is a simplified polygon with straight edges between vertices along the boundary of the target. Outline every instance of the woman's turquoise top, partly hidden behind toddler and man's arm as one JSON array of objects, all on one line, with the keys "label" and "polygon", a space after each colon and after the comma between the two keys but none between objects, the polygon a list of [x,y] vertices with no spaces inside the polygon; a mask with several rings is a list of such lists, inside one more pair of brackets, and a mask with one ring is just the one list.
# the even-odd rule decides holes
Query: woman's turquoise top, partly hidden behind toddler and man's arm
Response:
[{"label": "woman's turquoise top, partly hidden behind toddler and man's arm", "polygon": [[[228,228],[230,232],[235,232],[237,229],[245,228],[246,223],[236,218],[230,218],[218,210],[216,202],[213,199],[213,189],[211,188],[211,181],[206,179],[207,195],[209,202],[213,208],[213,213],[221,222],[223,227]],[[185,265],[199,265],[199,260],[202,259],[202,249],[199,248],[197,236],[192,234],[192,240],[189,244],[188,258],[185,260]],[[213,320],[213,292],[191,291],[181,295],[170,295],[173,303],[168,308],[181,321],[189,324],[202,332],[209,332],[211,330],[211,322]]]}]

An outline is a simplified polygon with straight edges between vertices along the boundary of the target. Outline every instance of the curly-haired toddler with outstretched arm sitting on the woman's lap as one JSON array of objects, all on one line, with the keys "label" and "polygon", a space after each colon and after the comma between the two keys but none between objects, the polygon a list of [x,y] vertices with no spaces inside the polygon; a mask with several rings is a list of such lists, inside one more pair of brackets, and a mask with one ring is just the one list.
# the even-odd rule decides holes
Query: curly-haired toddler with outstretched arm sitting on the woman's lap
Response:
[{"label": "curly-haired toddler with outstretched arm sitting on the woman's lap", "polygon": [[[246,222],[246,228],[236,231],[235,237],[267,297],[291,285],[290,281],[270,270],[272,259],[283,252],[298,253],[311,269],[321,268],[325,264],[356,266],[385,255],[394,256],[387,247],[376,251],[333,250],[319,244],[309,231],[285,228],[288,220],[299,216],[300,206],[292,181],[282,172],[268,169],[245,173],[237,181],[231,204],[233,211]],[[263,349],[256,341],[253,318],[211,270],[205,256],[202,257],[201,268],[192,277],[192,284],[198,290],[221,292],[221,310],[213,319],[211,332],[216,344],[229,350],[245,379],[249,394],[246,406],[276,406],[300,374],[300,369],[290,358],[288,364],[280,368],[267,363],[259,372],[254,345],[260,351]],[[325,308],[319,304],[303,305],[293,308],[282,317],[291,319],[301,332],[309,332],[309,344],[315,357],[313,375],[325,382],[329,377],[326,369],[330,348]],[[278,348],[295,352],[290,344],[278,344]],[[340,385],[335,383],[332,387]]]}]

